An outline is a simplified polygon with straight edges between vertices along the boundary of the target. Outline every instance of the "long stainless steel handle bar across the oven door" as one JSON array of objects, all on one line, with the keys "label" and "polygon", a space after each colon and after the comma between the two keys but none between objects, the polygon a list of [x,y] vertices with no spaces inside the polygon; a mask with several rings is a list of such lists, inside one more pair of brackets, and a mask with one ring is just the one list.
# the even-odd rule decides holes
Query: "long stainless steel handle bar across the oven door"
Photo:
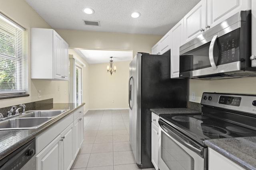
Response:
[{"label": "long stainless steel handle bar across the oven door", "polygon": [[[184,139],[182,139],[182,137],[180,137],[179,135],[177,135],[176,133],[172,132],[171,130],[169,130],[168,127],[166,127],[164,125],[164,123],[158,121],[160,127],[171,137],[173,137],[174,139],[176,139],[178,142],[180,142],[182,145],[186,146],[188,149],[193,150],[194,152],[196,152],[196,154],[198,154],[199,156],[201,156],[202,158],[203,156],[203,152],[202,150],[194,147],[193,145],[191,145],[190,143],[188,143],[187,141],[185,141]],[[192,142],[192,141],[191,141]]]}]

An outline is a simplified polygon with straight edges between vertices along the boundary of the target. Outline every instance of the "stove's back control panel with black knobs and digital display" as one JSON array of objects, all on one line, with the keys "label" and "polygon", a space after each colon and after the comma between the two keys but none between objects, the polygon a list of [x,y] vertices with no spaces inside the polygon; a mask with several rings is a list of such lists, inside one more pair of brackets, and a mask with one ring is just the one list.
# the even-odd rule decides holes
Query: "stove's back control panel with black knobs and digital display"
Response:
[{"label": "stove's back control panel with black knobs and digital display", "polygon": [[204,92],[201,104],[256,115],[256,95]]}]

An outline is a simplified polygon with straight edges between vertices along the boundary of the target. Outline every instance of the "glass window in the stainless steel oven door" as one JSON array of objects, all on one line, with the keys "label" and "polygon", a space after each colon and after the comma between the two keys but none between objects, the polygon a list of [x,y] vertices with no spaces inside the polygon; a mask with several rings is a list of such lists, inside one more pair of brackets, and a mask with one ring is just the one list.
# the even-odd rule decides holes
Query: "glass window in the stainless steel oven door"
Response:
[{"label": "glass window in the stainless steel oven door", "polygon": [[161,158],[170,170],[194,170],[194,158],[161,133]]}]

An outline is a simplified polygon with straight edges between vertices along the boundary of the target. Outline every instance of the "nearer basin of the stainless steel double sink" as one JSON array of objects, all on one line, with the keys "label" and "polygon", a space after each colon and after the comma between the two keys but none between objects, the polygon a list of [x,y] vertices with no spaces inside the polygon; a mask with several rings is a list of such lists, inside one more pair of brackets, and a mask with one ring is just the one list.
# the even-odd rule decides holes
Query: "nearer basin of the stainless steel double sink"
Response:
[{"label": "nearer basin of the stainless steel double sink", "polygon": [[50,121],[51,117],[30,117],[30,118],[14,118],[5,121],[0,121],[0,130],[14,129],[36,129],[46,122]]}]

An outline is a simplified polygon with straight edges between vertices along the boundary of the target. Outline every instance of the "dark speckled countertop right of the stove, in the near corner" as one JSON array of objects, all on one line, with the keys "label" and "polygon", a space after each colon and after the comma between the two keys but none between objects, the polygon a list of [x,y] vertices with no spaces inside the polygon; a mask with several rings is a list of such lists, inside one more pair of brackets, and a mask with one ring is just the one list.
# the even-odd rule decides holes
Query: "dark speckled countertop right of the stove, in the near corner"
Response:
[{"label": "dark speckled countertop right of the stove, in the near corner", "polygon": [[246,170],[256,170],[256,137],[210,139],[204,143]]}]

